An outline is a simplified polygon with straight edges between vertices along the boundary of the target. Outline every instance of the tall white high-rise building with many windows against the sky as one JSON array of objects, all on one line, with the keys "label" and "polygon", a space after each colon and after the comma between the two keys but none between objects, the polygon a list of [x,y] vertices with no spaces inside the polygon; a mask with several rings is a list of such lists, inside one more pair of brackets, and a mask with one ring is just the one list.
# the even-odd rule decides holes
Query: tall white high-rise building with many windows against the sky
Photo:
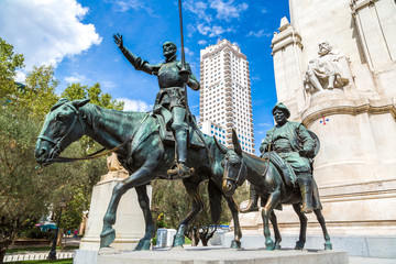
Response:
[{"label": "tall white high-rise building with many windows against the sky", "polygon": [[227,40],[200,51],[200,123],[204,133],[232,145],[235,129],[242,150],[254,153],[249,63]]}]

